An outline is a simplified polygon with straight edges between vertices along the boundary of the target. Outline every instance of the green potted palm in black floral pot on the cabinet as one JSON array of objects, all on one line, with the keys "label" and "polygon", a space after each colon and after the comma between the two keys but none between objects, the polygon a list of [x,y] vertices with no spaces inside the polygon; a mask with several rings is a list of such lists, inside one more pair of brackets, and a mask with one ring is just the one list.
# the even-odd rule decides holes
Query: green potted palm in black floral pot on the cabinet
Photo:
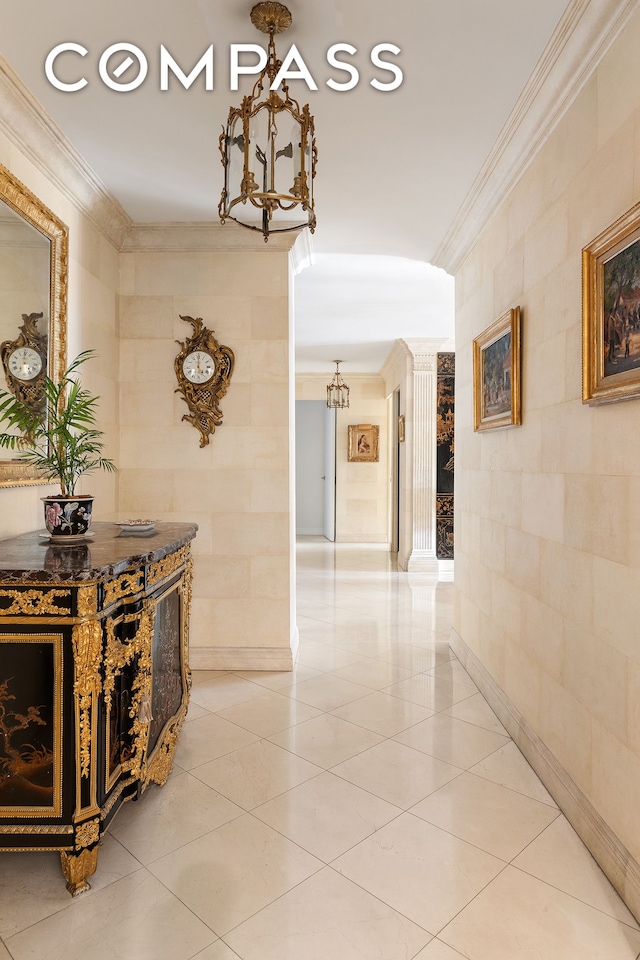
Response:
[{"label": "green potted palm in black floral pot on the cabinet", "polygon": [[82,536],[91,524],[93,497],[76,493],[80,477],[93,470],[116,469],[102,455],[103,431],[96,429],[99,397],[75,376],[94,355],[93,350],[78,354],[57,383],[45,376],[45,413],[0,390],[0,424],[6,430],[0,433],[0,448],[19,450],[43,481],[60,484],[60,494],[42,498],[47,530],[56,538]]}]

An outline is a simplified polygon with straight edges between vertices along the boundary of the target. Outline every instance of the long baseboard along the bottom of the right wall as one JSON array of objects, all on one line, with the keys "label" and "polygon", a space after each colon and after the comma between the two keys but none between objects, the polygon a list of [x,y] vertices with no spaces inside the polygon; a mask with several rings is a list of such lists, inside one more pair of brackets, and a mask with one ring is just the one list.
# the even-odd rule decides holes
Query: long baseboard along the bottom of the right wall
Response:
[{"label": "long baseboard along the bottom of the right wall", "polygon": [[455,630],[451,631],[450,644],[498,720],[538,774],[593,858],[631,912],[640,919],[640,864],[634,860],[591,801]]}]

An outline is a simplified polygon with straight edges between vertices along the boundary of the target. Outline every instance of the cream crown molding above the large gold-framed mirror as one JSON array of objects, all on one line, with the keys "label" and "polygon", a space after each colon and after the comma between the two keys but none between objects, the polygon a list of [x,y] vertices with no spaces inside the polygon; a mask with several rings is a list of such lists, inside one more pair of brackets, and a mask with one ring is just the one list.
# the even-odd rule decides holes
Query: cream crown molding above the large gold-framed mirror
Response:
[{"label": "cream crown molding above the large gold-framed mirror", "polygon": [[120,249],[130,216],[2,55],[0,131]]}]

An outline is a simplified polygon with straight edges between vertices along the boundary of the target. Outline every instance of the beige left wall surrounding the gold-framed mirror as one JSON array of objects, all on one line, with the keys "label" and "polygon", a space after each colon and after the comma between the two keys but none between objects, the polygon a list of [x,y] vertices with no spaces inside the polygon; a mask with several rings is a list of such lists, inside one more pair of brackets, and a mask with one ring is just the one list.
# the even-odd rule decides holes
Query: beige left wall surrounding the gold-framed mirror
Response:
[{"label": "beige left wall surrounding the gold-framed mirror", "polygon": [[[68,356],[96,350],[97,359],[83,368],[83,383],[100,396],[100,427],[106,455],[119,463],[117,310],[118,253],[82,215],[68,195],[0,134],[0,163],[18,177],[69,227]],[[3,451],[4,453],[4,451]],[[52,486],[0,489],[0,539],[44,528],[40,497]],[[81,481],[81,492],[96,496],[94,517],[113,519],[118,474],[96,473]]]}]

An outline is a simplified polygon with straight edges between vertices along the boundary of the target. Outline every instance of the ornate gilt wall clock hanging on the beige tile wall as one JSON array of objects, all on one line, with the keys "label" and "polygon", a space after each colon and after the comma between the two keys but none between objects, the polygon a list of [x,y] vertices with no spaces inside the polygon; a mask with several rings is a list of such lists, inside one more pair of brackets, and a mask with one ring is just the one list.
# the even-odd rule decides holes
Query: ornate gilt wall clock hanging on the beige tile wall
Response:
[{"label": "ornate gilt wall clock hanging on the beige tile wall", "polygon": [[186,420],[200,433],[200,446],[209,443],[209,436],[222,423],[220,401],[229,387],[235,358],[230,347],[218,343],[213,330],[205,327],[201,317],[183,317],[193,327],[193,336],[176,340],[180,353],[174,367],[178,378],[176,393],[189,407]]}]

